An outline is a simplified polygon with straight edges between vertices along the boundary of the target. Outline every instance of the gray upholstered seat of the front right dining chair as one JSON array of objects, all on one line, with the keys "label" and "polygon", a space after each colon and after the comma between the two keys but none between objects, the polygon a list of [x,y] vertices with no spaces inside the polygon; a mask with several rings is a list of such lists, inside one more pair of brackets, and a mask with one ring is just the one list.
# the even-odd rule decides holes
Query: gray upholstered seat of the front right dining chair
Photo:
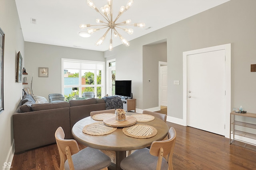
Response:
[{"label": "gray upholstered seat of the front right dining chair", "polygon": [[[121,161],[123,170],[156,170],[158,157],[152,156],[148,148],[135,150]],[[163,158],[161,170],[168,169],[168,162]]]}]

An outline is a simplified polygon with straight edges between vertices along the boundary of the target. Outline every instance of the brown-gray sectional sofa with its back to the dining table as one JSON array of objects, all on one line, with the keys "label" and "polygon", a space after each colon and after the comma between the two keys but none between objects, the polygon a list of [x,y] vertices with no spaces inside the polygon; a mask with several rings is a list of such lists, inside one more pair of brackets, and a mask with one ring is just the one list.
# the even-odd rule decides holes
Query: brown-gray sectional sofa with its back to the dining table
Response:
[{"label": "brown-gray sectional sofa with its back to the dining table", "polygon": [[105,109],[105,101],[98,98],[36,104],[31,95],[25,95],[12,115],[15,153],[55,143],[54,133],[60,126],[65,139],[71,139],[77,121]]}]

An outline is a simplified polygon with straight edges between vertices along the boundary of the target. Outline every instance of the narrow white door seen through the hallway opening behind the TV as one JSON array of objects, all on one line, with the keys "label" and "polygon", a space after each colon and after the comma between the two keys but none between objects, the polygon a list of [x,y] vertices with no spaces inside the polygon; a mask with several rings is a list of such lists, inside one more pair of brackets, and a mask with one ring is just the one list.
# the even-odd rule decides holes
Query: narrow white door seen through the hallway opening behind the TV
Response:
[{"label": "narrow white door seen through the hallway opening behind the TV", "polygon": [[160,66],[160,105],[167,106],[167,66]]}]

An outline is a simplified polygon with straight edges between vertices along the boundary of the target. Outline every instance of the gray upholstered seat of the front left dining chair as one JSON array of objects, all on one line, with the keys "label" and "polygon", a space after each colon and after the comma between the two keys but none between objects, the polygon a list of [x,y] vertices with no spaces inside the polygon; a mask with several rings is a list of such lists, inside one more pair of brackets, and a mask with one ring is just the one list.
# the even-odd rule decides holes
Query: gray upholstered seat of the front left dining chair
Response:
[{"label": "gray upholstered seat of the front left dining chair", "polygon": [[[75,170],[100,170],[111,164],[111,159],[98,149],[86,147],[72,155]],[[64,164],[65,170],[69,170],[68,160]]]}]

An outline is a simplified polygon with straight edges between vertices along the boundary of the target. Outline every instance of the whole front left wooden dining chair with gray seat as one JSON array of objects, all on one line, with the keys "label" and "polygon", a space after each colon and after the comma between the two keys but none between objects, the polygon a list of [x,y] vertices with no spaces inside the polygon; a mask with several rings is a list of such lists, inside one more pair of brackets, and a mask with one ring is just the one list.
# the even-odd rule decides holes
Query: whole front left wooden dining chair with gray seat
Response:
[{"label": "whole front left wooden dining chair with gray seat", "polygon": [[55,132],[60,153],[60,170],[108,170],[111,159],[98,149],[86,147],[79,150],[74,139],[64,139],[62,127]]}]

